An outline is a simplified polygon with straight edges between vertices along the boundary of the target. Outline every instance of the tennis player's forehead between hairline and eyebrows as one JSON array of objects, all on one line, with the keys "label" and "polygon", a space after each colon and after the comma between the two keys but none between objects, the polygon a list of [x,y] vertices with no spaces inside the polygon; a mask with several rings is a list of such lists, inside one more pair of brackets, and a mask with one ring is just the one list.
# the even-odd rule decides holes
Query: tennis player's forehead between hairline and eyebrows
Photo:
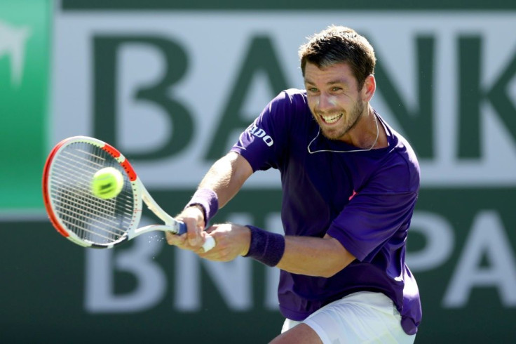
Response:
[{"label": "tennis player's forehead between hairline and eyebrows", "polygon": [[351,67],[347,63],[335,63],[328,67],[319,68],[313,63],[306,63],[304,71],[304,82],[306,84],[348,84],[353,85],[356,79],[353,76]]}]

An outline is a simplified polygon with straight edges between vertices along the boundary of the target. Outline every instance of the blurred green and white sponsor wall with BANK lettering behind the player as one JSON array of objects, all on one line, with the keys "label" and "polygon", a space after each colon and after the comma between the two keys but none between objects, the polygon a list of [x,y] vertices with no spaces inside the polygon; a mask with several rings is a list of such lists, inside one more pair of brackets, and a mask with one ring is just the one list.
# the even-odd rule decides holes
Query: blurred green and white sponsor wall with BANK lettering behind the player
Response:
[{"label": "blurred green and white sponsor wall with BANK lettering behind the player", "polygon": [[[266,102],[302,87],[297,47],[331,24],[372,42],[373,105],[420,159],[416,343],[515,343],[516,3],[456,0],[0,0],[0,342],[276,336],[276,270],[159,234],[82,249],[46,218],[41,173],[57,141],[91,135],[179,211]],[[277,173],[257,173],[215,221],[280,232],[280,195]]]}]

